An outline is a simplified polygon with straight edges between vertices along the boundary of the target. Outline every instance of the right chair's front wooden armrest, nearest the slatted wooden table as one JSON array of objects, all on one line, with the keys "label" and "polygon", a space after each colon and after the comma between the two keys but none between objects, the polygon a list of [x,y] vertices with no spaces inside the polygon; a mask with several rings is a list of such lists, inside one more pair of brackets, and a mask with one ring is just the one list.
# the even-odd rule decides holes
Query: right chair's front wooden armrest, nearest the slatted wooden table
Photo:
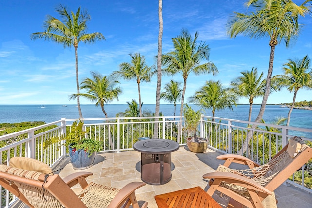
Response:
[{"label": "right chair's front wooden armrest, nearest the slatted wooden table", "polygon": [[[253,189],[271,195],[272,192],[253,180],[241,175],[230,172],[211,172],[203,175],[203,178],[214,178],[215,180],[224,181],[226,183],[235,184],[248,189]],[[215,183],[215,182],[214,182]]]}]

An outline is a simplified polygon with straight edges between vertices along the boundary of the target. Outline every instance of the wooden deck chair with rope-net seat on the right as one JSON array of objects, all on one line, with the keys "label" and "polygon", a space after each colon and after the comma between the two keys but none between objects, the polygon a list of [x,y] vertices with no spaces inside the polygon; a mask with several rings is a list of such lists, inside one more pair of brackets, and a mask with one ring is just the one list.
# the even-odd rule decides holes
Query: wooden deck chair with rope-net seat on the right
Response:
[{"label": "wooden deck chair with rope-net seat on the right", "polygon": [[[210,196],[216,190],[229,196],[231,200],[228,208],[242,205],[249,208],[271,208],[277,207],[273,191],[312,158],[312,148],[300,138],[294,137],[264,165],[233,154],[217,158],[226,160],[224,165],[219,165],[216,172],[203,175],[203,178],[213,179],[207,190]],[[232,162],[248,165],[249,169],[231,169],[229,165]]]}]

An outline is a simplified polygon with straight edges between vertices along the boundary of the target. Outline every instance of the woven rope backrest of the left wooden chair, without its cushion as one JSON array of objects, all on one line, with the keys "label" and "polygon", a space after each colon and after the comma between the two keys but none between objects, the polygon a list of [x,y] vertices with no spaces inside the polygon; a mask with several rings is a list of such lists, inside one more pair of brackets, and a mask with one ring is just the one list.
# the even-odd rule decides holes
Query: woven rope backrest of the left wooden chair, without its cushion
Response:
[{"label": "woven rope backrest of the left wooden chair, without its cushion", "polygon": [[0,184],[35,208],[86,208],[72,189],[55,174],[46,174],[0,165]]}]

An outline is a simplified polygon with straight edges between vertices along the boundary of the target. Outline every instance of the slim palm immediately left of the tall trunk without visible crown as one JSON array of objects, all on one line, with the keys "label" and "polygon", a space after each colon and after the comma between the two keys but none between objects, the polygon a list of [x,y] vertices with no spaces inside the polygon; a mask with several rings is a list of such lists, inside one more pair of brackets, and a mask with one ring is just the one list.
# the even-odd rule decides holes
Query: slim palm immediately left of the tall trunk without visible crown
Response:
[{"label": "slim palm immediately left of the tall trunk without visible crown", "polygon": [[138,99],[139,99],[139,110],[140,117],[142,117],[142,102],[141,102],[141,82],[151,81],[151,67],[148,67],[145,63],[145,57],[141,56],[139,53],[134,55],[129,54],[131,57],[131,63],[124,62],[119,65],[119,71],[114,71],[113,76],[121,77],[125,80],[135,79],[137,81],[138,88]]}]

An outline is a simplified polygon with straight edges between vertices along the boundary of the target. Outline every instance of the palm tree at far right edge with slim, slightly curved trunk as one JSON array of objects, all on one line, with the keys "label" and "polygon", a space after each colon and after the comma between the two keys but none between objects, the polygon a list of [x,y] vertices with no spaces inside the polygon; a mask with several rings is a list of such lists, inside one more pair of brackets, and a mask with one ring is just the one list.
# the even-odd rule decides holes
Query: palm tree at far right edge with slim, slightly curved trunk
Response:
[{"label": "palm tree at far right edge with slim, slightly curved trunk", "polygon": [[272,79],[276,78],[276,81],[280,86],[287,87],[289,92],[294,92],[292,106],[289,109],[287,116],[286,126],[289,126],[292,109],[299,89],[312,89],[312,73],[311,71],[308,72],[310,69],[310,58],[306,55],[300,60],[288,59],[288,63],[285,63],[283,66],[285,75],[277,75]]}]

